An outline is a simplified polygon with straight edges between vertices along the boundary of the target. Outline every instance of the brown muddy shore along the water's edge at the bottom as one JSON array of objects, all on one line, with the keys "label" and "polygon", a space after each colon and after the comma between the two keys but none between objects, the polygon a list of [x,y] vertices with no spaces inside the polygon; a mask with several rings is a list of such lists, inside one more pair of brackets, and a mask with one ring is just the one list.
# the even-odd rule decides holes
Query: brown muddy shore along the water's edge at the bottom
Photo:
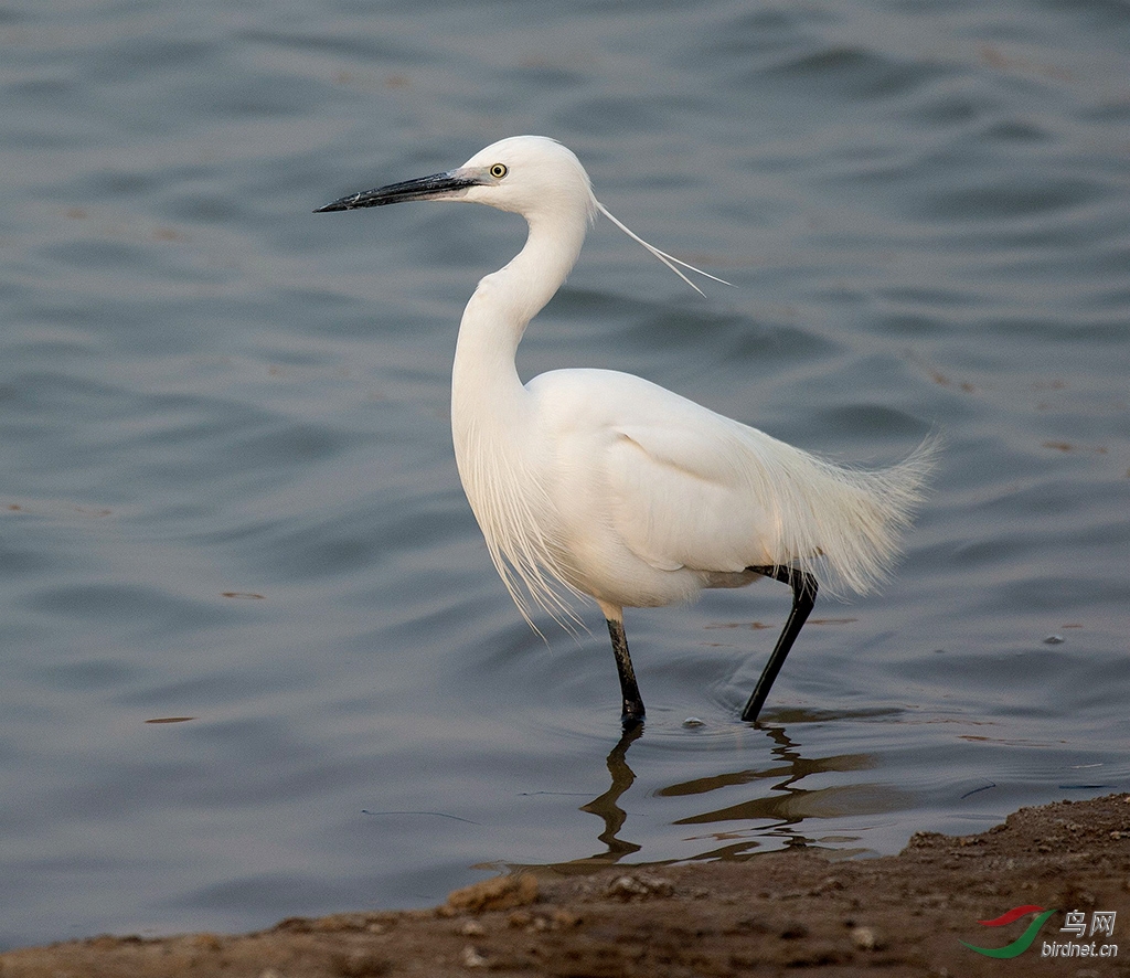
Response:
[{"label": "brown muddy shore along the water's edge at the bottom", "polygon": [[[1010,923],[988,927],[1014,908]],[[970,950],[1023,943],[1011,959]],[[1063,932],[1069,911],[1090,929]],[[1109,921],[1110,917],[1105,917]],[[1059,945],[1050,957],[1045,945]],[[1116,952],[1110,949],[1115,947]],[[1074,949],[1062,957],[1063,949]],[[1084,957],[1084,947],[1093,953]],[[1105,950],[1104,950],[1105,949]],[[1099,957],[1105,954],[1105,957]],[[292,918],[237,936],[94,937],[0,954],[2,978],[822,975],[1130,976],[1130,795],[1022,808],[897,856],[504,876],[432,910]]]}]

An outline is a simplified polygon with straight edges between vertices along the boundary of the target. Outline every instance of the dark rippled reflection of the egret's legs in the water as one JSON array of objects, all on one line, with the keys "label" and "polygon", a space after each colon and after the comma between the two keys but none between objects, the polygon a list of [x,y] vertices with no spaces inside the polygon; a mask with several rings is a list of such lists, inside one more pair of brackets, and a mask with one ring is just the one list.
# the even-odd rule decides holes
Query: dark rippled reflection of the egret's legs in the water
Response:
[{"label": "dark rippled reflection of the egret's legs in the water", "polygon": [[[607,848],[602,852],[583,859],[576,859],[567,865],[577,868],[584,865],[608,865],[617,863],[625,856],[638,852],[643,847],[619,837],[627,820],[627,813],[619,805],[620,797],[632,787],[636,779],[635,772],[628,765],[628,747],[643,734],[644,728],[636,727],[620,737],[607,758],[608,773],[611,785],[608,790],[589,804],[582,805],[582,812],[599,816],[603,831],[597,837]],[[832,785],[827,787],[800,787],[808,778],[836,774],[846,771],[864,771],[876,767],[870,754],[835,754],[828,758],[807,759],[801,755],[800,745],[794,743],[783,726],[763,727],[754,725],[742,727],[742,730],[764,733],[772,741],[773,763],[764,769],[745,769],[725,771],[706,778],[695,778],[681,781],[654,791],[657,797],[706,796],[704,800],[716,798],[716,793],[731,795],[734,788],[744,785],[762,786],[756,797],[746,798],[716,807],[707,807],[698,814],[675,820],[675,825],[716,825],[718,823],[738,823],[695,838],[706,843],[706,848],[688,855],[692,859],[736,859],[753,855],[750,850],[760,849],[766,840],[774,839],[773,848],[783,846],[808,846],[831,841],[827,838],[810,837],[800,831],[800,825],[814,819],[851,817],[858,815],[875,815],[895,811],[911,804],[910,796],[896,788],[877,784]],[[770,781],[767,786],[764,782]],[[754,823],[750,825],[749,823]],[[850,841],[840,837],[836,841]],[[721,843],[721,845],[719,845]],[[560,868],[560,867],[559,867]]]}]

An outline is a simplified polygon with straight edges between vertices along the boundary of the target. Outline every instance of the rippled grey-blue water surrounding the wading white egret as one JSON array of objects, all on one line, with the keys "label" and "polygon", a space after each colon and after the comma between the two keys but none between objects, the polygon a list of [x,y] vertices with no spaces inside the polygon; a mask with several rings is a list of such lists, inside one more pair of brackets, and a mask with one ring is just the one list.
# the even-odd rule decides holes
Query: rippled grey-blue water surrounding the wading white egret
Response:
[{"label": "rippled grey-blue water surrounding the wading white egret", "polygon": [[[0,45],[0,943],[1128,787],[1124,5],[23,0]],[[783,587],[629,614],[617,746],[599,615],[547,647],[489,566],[447,374],[520,222],[310,213],[520,132],[738,285],[601,223],[528,375],[850,460],[946,438],[895,581],[822,599],[764,729]]]}]

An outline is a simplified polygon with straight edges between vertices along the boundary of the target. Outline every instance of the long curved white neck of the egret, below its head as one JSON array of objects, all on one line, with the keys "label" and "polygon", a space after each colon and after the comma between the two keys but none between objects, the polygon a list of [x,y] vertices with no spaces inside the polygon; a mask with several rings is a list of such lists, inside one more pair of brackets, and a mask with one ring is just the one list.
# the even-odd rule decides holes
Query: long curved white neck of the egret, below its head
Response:
[{"label": "long curved white neck of the egret, below its head", "polygon": [[451,383],[452,429],[480,426],[488,416],[518,422],[525,389],[514,356],[530,320],[549,302],[576,262],[588,215],[531,222],[525,246],[475,289],[459,327]]}]

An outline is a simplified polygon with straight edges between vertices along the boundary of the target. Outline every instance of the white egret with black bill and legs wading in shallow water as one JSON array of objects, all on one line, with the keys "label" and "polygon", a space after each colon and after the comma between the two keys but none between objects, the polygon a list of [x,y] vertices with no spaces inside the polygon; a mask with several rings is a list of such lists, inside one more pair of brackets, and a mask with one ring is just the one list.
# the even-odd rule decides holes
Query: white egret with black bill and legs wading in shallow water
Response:
[{"label": "white egret with black bill and legs wading in shallow water", "polygon": [[[554,370],[523,383],[515,366],[530,321],[573,269],[598,215],[681,270],[597,200],[576,155],[542,136],[493,142],[462,166],[339,198],[314,213],[411,200],[484,204],[529,226],[523,248],[479,280],[463,311],[451,382],[455,462],[487,549],[519,612],[605,616],[625,730],[644,722],[624,608],[695,598],[759,578],[792,606],[741,711],[757,720],[818,590],[886,579],[920,505],[935,448],[886,469],[842,466],[628,373]],[[725,283],[729,284],[729,283]],[[831,587],[831,586],[829,586]],[[534,625],[536,628],[536,625]]]}]

